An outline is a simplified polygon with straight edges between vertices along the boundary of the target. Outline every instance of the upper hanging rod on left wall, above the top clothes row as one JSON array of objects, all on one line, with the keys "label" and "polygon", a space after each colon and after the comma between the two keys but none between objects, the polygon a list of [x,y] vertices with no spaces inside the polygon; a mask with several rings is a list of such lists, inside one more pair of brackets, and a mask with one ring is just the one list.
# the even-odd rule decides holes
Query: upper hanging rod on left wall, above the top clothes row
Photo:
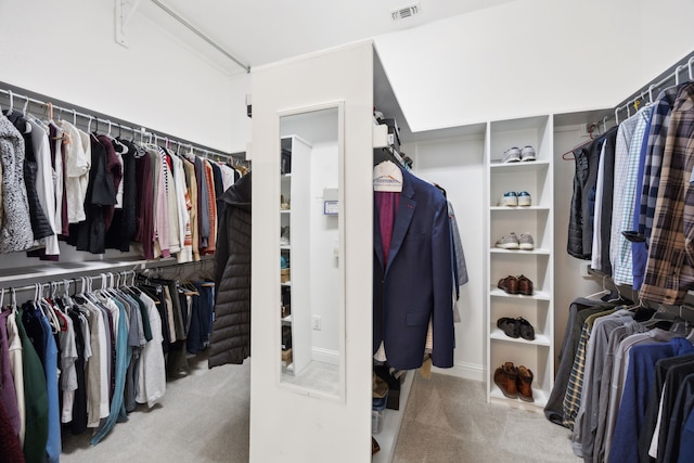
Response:
[{"label": "upper hanging rod on left wall, above the top clothes row", "polygon": [[73,116],[73,125],[77,125],[77,117],[81,117],[86,120],[86,125],[88,127],[88,131],[91,131],[92,121],[97,123],[97,127],[94,130],[98,130],[99,124],[103,124],[108,127],[108,134],[111,134],[112,130],[115,128],[118,129],[118,132],[121,132],[124,129],[129,130],[132,133],[133,139],[136,136],[140,139],[140,141],[144,142],[146,139],[147,142],[154,141],[154,144],[158,144],[159,141],[165,142],[167,149],[170,149],[170,144],[177,144],[178,147],[188,147],[191,152],[197,151],[203,157],[214,158],[214,157],[223,157],[228,160],[233,160],[235,163],[245,162],[245,159],[240,156],[234,156],[232,154],[222,153],[220,151],[209,149],[206,146],[202,146],[192,142],[188,142],[185,140],[180,140],[177,137],[168,136],[168,134],[159,134],[153,130],[150,130],[145,127],[140,127],[140,129],[133,128],[133,125],[117,118],[111,118],[104,116],[103,114],[99,114],[95,112],[91,112],[85,108],[76,110],[76,106],[70,106],[64,102],[53,103],[51,100],[43,95],[35,94],[34,92],[21,89],[15,86],[11,86],[9,83],[0,82],[0,93],[5,94],[9,99],[10,110],[22,111],[23,113],[27,113],[31,104],[39,105],[43,108],[43,114],[53,118],[53,112],[57,111],[59,114],[66,113],[67,115]]}]

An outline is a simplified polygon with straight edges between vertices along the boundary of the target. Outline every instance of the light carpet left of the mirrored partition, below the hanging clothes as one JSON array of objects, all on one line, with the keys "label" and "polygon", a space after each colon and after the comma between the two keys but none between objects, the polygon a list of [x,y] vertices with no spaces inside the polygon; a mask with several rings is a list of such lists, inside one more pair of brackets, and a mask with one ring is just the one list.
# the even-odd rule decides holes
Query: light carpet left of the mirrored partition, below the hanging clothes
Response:
[{"label": "light carpet left of the mirrored partition, below the hanging clothes", "polygon": [[139,406],[97,446],[91,433],[64,436],[62,463],[248,461],[250,362],[207,369],[189,359],[189,374],[166,384],[160,403]]}]

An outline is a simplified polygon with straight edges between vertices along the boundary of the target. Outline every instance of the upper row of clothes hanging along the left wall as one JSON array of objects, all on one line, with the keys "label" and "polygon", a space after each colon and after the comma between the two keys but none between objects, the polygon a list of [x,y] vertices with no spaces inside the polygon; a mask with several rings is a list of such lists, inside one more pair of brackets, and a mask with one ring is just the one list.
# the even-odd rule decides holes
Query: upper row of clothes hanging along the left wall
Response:
[{"label": "upper row of clothes hanging along the left wall", "polygon": [[[239,169],[156,144],[86,133],[65,120],[44,123],[16,111],[0,118],[8,140],[0,194],[2,210],[12,211],[0,252],[57,260],[60,239],[92,254],[128,252],[134,241],[147,259],[176,255],[179,262],[214,254],[216,201]],[[190,223],[193,207],[200,213],[196,227]]]}]

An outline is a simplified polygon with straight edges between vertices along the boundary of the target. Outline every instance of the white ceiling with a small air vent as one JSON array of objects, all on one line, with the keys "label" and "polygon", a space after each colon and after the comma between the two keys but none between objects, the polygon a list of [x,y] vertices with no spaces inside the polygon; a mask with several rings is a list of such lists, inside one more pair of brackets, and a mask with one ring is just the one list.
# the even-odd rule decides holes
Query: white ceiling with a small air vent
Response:
[{"label": "white ceiling with a small air vent", "polygon": [[[229,67],[224,67],[230,72],[243,73],[243,67],[190,33],[156,3],[175,12],[226,52],[253,68],[509,1],[147,0],[141,3],[139,12],[204,54],[216,53],[221,60],[229,61]],[[410,5],[417,7],[417,14],[393,20],[394,11]]]}]

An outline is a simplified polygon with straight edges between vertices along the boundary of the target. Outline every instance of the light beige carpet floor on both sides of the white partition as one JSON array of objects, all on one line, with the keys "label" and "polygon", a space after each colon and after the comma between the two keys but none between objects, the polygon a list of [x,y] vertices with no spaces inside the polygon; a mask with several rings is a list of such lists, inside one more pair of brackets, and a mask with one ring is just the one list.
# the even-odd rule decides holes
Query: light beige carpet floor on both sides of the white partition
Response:
[{"label": "light beige carpet floor on both sides of the white partition", "polygon": [[[64,436],[61,462],[247,462],[250,362],[208,370],[198,356],[189,364],[159,404],[139,406],[99,445],[89,433]],[[543,414],[487,404],[483,383],[416,374],[393,461],[578,462],[568,437]]]}]

